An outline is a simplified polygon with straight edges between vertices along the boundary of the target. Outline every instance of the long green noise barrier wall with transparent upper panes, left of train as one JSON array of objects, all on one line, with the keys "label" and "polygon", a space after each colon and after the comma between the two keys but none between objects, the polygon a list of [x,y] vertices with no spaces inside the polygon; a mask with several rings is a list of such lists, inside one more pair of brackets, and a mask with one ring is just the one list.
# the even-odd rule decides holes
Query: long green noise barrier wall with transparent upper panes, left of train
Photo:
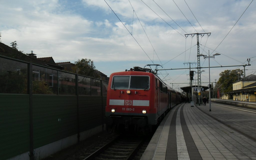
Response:
[{"label": "long green noise barrier wall with transparent upper panes, left of train", "polygon": [[0,160],[103,126],[107,81],[1,55],[0,77]]}]

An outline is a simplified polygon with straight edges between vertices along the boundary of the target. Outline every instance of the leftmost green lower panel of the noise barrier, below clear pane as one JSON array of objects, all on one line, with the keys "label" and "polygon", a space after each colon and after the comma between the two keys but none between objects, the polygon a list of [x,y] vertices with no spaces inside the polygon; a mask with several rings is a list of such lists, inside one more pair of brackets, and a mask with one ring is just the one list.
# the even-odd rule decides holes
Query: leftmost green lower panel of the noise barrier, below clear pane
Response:
[{"label": "leftmost green lower panel of the noise barrier, below clear pane", "polygon": [[0,94],[0,159],[29,151],[29,95]]}]

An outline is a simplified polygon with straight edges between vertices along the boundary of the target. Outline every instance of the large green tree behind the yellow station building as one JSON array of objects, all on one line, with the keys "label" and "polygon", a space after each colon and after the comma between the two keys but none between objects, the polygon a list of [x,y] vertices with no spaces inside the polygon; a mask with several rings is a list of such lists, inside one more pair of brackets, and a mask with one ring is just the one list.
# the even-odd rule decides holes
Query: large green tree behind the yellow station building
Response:
[{"label": "large green tree behind the yellow station building", "polygon": [[[239,72],[239,73],[238,73]],[[222,84],[221,88],[223,92],[230,92],[233,90],[232,83],[241,80],[241,76],[243,75],[243,70],[235,69],[235,70],[225,70],[221,72],[220,78],[215,85],[215,90]]]}]

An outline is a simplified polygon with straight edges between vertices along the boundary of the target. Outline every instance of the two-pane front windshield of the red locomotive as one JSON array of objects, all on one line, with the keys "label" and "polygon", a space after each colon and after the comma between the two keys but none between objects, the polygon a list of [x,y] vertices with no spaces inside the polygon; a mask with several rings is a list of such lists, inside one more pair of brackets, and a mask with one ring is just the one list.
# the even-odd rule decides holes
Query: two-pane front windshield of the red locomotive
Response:
[{"label": "two-pane front windshield of the red locomotive", "polygon": [[149,89],[149,76],[114,76],[111,89]]}]

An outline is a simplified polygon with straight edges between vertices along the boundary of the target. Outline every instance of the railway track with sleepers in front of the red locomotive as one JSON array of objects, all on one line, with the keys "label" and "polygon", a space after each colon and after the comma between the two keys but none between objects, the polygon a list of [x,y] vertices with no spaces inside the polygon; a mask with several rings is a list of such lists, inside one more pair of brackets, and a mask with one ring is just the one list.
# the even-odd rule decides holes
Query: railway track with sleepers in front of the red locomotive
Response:
[{"label": "railway track with sleepers in front of the red locomotive", "polygon": [[[119,136],[83,160],[134,159],[145,142],[144,137]],[[145,144],[144,144],[145,145]],[[136,159],[136,158],[135,158]]]}]

